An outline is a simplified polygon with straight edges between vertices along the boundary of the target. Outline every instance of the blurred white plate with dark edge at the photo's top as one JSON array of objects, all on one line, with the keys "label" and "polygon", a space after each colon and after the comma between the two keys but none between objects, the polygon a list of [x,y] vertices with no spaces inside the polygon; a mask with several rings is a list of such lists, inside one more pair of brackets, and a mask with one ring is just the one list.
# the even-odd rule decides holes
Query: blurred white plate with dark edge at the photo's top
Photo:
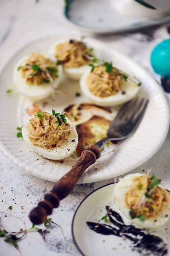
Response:
[{"label": "blurred white plate with dark edge at the photo's top", "polygon": [[154,18],[122,15],[116,11],[113,0],[68,0],[67,2],[64,16],[81,32],[117,33],[139,30],[170,21],[170,15],[157,15]]}]

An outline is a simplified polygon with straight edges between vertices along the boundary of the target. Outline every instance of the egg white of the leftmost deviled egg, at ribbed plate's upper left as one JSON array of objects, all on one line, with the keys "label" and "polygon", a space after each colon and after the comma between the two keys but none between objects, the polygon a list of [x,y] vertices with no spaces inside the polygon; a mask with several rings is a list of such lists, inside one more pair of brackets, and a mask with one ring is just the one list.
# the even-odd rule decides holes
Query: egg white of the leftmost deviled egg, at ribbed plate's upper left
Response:
[{"label": "egg white of the leftmost deviled egg, at ribbed plate's upper left", "polygon": [[[48,55],[45,55],[45,57],[50,58],[51,61],[54,61],[56,63],[57,59]],[[29,99],[32,99],[33,101],[40,101],[43,99],[48,98],[52,92],[53,89],[50,84],[44,83],[41,85],[30,85],[26,83],[26,79],[24,79],[21,75],[21,70],[17,70],[19,66],[25,65],[26,61],[28,60],[29,55],[24,56],[21,58],[17,64],[14,67],[13,72],[13,80],[14,84],[17,87],[17,90],[23,94],[24,96],[28,97]],[[62,66],[58,66],[58,78],[54,79],[53,87],[56,89],[62,79]]]}]

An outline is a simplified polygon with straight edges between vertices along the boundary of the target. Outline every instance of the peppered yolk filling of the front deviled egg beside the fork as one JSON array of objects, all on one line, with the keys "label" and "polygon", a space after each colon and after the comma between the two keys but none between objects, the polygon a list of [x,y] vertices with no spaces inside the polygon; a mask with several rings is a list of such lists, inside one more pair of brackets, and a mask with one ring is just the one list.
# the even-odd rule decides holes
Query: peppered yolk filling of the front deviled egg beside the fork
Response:
[{"label": "peppered yolk filling of the front deviled egg beside the fork", "polygon": [[57,119],[52,118],[52,115],[42,113],[42,116],[46,116],[45,119],[41,119],[35,114],[27,126],[28,137],[32,145],[42,148],[59,147],[70,134],[70,131],[68,131],[70,124],[62,122],[62,125],[59,126]]}]

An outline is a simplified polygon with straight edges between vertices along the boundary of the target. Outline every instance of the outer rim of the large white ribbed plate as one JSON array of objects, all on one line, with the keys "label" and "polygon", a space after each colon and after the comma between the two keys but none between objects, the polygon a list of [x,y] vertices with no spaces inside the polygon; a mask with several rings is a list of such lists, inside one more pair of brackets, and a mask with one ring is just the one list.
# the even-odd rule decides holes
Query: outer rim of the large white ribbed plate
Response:
[{"label": "outer rim of the large white ribbed plate", "polygon": [[[55,35],[54,35],[54,37],[55,37]],[[57,35],[56,35],[56,37],[57,37]],[[17,50],[17,52],[20,52],[27,45],[32,44],[32,43],[34,43],[34,42],[36,42],[38,40],[45,39],[45,38],[49,38],[49,36],[38,38],[38,39],[35,39],[33,41],[30,41],[27,44],[25,44],[24,46],[20,47]],[[96,40],[94,38],[92,38],[92,40],[94,42],[96,41],[96,43],[100,44],[102,47],[105,45],[101,41],[98,41],[98,40]],[[17,54],[17,52],[14,52],[14,54],[11,56],[11,58],[14,58],[14,56]],[[164,140],[165,140],[165,138],[167,136],[167,132],[168,132],[168,129],[169,129],[169,123],[170,123],[170,112],[169,112],[169,106],[168,106],[167,99],[166,99],[166,96],[165,96],[165,93],[164,93],[163,89],[156,82],[156,80],[153,79],[153,77],[146,70],[144,70],[143,67],[141,67],[139,64],[136,64],[136,62],[131,60],[126,55],[123,55],[123,54],[121,54],[121,53],[119,53],[119,52],[117,52],[117,51],[115,51],[113,49],[110,49],[110,53],[113,54],[118,59],[124,59],[124,61],[126,61],[127,63],[135,65],[136,69],[140,70],[140,72],[143,74],[143,76],[145,76],[145,78],[147,78],[152,84],[154,84],[157,87],[157,90],[159,91],[159,94],[160,94],[161,98],[164,101],[164,111],[166,112],[166,119],[165,119],[165,124],[164,124],[164,132],[162,132],[162,134],[160,134],[159,142],[157,143],[156,147],[152,148],[152,150],[150,150],[150,153],[148,153],[146,156],[142,157],[142,160],[139,160],[136,163],[133,163],[131,166],[127,166],[126,171],[125,171],[125,169],[124,170],[119,170],[119,175],[122,175],[122,174],[125,174],[126,172],[129,172],[129,171],[139,167],[141,164],[145,163],[147,160],[149,160],[151,157],[153,157],[154,154],[156,154],[156,152],[159,150],[161,145],[164,143]],[[1,76],[1,74],[3,72],[3,69],[6,68],[6,66],[8,64],[8,61],[10,61],[11,58],[8,58],[6,63],[1,68],[0,76]],[[0,148],[3,150],[3,152],[7,155],[7,157],[10,160],[13,160],[13,163],[17,167],[20,167],[21,169],[23,169],[27,174],[31,174],[31,175],[34,175],[36,177],[41,177],[40,170],[37,170],[36,168],[33,168],[32,166],[29,166],[29,168],[28,168],[27,166],[21,165],[20,162],[19,162],[19,159],[17,159],[17,160],[15,159],[14,160],[15,157],[13,157],[13,154],[10,152],[10,150],[6,149],[6,146],[3,145],[3,142],[1,140],[0,140]],[[110,179],[112,177],[114,177],[114,175],[111,172],[107,173],[107,175],[105,175],[104,177],[103,176],[102,177],[96,177],[95,176],[95,177],[91,178],[91,176],[89,176],[89,177],[86,176],[86,177],[83,178],[82,182],[78,182],[78,183],[91,183],[91,182],[96,182],[96,181],[101,181],[101,180],[107,180],[107,179]],[[54,179],[55,179],[55,177],[48,177],[48,173],[45,175],[45,172],[44,172],[43,177],[41,177],[41,178],[43,178],[45,180],[53,181],[53,182],[54,182]],[[85,181],[84,181],[84,179],[85,179]]]}]

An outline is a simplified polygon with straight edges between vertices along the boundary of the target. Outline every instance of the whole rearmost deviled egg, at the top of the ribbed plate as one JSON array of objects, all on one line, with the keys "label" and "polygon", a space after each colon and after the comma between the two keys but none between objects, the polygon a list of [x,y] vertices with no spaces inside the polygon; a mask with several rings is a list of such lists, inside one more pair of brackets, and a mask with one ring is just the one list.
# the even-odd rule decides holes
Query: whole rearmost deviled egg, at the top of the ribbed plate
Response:
[{"label": "whole rearmost deviled egg, at the top of the ribbed plate", "polygon": [[89,69],[88,64],[93,59],[93,49],[83,41],[70,39],[58,41],[51,46],[49,54],[54,55],[61,64],[65,75],[74,80],[79,80],[83,73]]}]

